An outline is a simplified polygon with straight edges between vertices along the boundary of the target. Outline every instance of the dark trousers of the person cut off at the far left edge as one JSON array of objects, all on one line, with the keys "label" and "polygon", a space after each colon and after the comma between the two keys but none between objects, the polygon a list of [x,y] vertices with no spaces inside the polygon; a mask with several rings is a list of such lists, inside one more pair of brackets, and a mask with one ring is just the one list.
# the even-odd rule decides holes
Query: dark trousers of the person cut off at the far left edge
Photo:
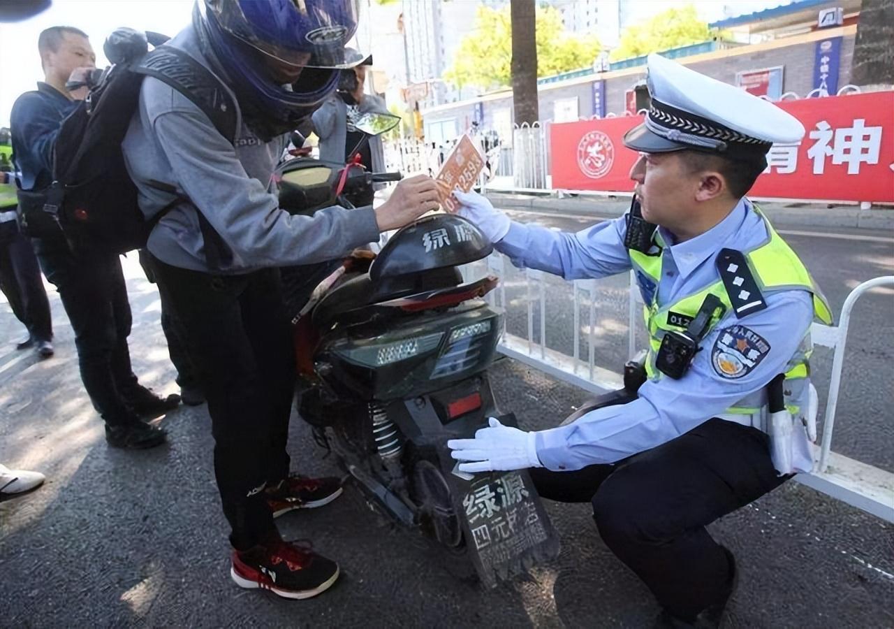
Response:
[{"label": "dark trousers of the person cut off at the far left edge", "polygon": [[[4,211],[14,211],[14,208],[4,208]],[[50,302],[46,299],[38,259],[15,221],[0,223],[0,290],[32,338],[53,339]]]}]

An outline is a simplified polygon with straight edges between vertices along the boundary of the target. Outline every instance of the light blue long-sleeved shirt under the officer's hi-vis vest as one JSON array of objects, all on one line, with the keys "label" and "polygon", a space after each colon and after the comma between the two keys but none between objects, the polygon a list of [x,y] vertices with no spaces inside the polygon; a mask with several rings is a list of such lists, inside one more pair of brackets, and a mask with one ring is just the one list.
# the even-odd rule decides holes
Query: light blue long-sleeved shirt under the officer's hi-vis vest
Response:
[{"label": "light blue long-sleeved shirt under the officer's hi-vis vest", "polygon": [[[625,217],[577,234],[513,222],[496,248],[519,268],[537,268],[569,280],[604,277],[631,268],[624,247],[626,231]],[[663,228],[659,228],[656,238],[663,243],[676,242]],[[650,278],[637,274],[640,291],[647,303],[655,290],[660,305],[677,302],[720,278],[714,266],[718,251],[750,251],[768,238],[763,220],[750,201],[739,200],[726,218],[704,234],[665,246],[661,281],[655,286]],[[814,308],[812,296],[802,290],[764,294],[763,298],[765,310],[742,319],[727,313],[705,336],[702,350],[696,353],[683,378],[649,380],[639,388],[639,397],[633,402],[596,409],[568,426],[538,431],[536,446],[541,463],[553,471],[571,471],[620,461],[679,437],[765,387],[786,370],[810,327]],[[730,378],[714,368],[712,348],[725,330],[737,325],[760,336],[769,350],[753,369]]]}]

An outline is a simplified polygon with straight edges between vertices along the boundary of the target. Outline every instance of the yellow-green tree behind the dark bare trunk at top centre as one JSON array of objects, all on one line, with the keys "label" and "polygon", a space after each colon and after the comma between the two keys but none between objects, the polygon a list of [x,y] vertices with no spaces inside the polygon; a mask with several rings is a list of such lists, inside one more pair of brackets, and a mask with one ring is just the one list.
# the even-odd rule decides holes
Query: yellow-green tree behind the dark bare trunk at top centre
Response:
[{"label": "yellow-green tree behind the dark bare trunk at top centre", "polygon": [[[533,0],[525,1],[533,4]],[[599,50],[595,36],[569,35],[562,29],[561,13],[550,6],[537,7],[537,76],[589,67]],[[511,84],[511,59],[510,4],[501,9],[480,6],[472,32],[460,41],[443,79],[460,88],[466,85],[482,89],[505,87]]]}]

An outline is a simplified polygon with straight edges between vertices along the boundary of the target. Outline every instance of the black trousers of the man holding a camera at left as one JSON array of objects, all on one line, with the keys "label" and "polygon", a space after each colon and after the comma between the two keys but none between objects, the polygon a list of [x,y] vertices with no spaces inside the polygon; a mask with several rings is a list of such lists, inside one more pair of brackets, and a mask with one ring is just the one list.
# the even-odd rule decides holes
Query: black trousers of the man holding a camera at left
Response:
[{"label": "black trousers of the man holding a camera at left", "polygon": [[75,256],[62,240],[36,238],[33,242],[40,267],[59,291],[72,322],[80,378],[90,401],[107,424],[136,421],[124,402],[139,383],[127,345],[131,303],[121,259],[97,252]]}]

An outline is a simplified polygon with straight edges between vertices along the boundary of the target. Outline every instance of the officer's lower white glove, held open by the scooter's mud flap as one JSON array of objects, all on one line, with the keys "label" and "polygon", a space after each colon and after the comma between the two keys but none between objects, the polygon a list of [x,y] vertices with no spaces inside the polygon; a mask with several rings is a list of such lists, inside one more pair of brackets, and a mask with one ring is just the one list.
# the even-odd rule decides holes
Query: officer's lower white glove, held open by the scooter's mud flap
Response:
[{"label": "officer's lower white glove, held open by the scooter's mud flap", "polygon": [[460,463],[460,472],[495,472],[543,467],[537,458],[536,432],[503,426],[496,418],[490,428],[477,430],[474,439],[451,439],[447,447]]}]

